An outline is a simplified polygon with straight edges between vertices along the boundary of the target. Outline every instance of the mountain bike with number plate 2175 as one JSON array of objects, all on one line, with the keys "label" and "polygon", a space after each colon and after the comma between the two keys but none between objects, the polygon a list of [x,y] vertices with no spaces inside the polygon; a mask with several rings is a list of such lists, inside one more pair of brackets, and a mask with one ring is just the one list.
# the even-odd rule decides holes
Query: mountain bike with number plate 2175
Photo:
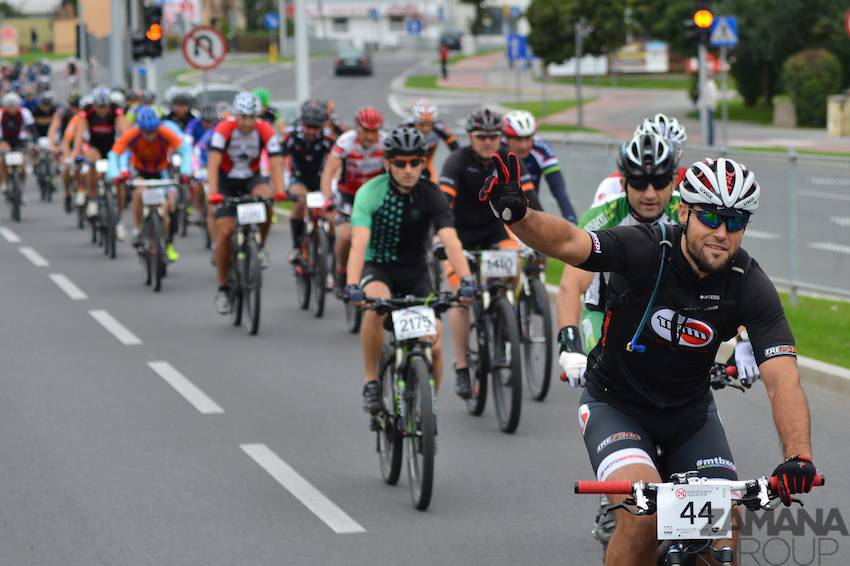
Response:
[{"label": "mountain bike with number plate 2175", "polygon": [[372,417],[381,477],[398,483],[403,454],[414,507],[424,511],[434,487],[437,411],[430,337],[437,315],[454,306],[449,293],[436,297],[366,299],[362,308],[389,314],[378,364],[383,409]]}]

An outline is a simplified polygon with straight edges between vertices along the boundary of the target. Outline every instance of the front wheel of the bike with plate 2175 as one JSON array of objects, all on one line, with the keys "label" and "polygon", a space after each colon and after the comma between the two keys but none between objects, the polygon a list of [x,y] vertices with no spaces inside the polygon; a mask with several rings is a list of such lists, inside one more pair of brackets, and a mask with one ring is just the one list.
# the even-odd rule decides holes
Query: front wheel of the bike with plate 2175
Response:
[{"label": "front wheel of the bike with plate 2175", "polygon": [[405,444],[407,444],[407,475],[410,481],[410,498],[413,506],[424,511],[431,503],[431,491],[434,487],[434,453],[436,451],[436,416],[434,415],[434,395],[431,386],[431,370],[424,358],[415,356],[410,360],[407,370],[407,387],[412,388],[405,395],[407,404],[407,423],[405,425]]}]

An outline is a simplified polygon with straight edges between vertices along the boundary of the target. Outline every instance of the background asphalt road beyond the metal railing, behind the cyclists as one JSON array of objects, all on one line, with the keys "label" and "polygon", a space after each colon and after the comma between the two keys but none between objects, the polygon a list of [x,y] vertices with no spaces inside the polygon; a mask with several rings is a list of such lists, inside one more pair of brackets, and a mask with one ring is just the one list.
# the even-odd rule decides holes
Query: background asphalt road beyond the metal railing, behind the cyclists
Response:
[{"label": "background asphalt road beyond the metal railing, behind the cyclists", "polygon": [[[416,69],[434,72],[431,54],[399,50],[375,55],[373,77],[334,77],[332,59],[313,59],[310,64],[312,96],[332,98],[337,114],[349,125],[358,108],[378,107],[395,124],[406,113],[416,95],[392,94],[391,82],[399,75]],[[294,71],[291,65],[231,66],[211,72],[210,81],[236,83],[246,88],[264,86],[276,100],[295,97]],[[510,98],[510,97],[509,97]],[[452,93],[441,91],[432,99],[447,125],[463,140],[463,120],[482,104],[505,100],[498,93]],[[544,136],[545,138],[545,136]],[[570,198],[578,211],[591,204],[599,181],[616,169],[616,146],[604,143],[551,142],[562,163]],[[437,154],[438,167],[447,151]],[[843,289],[850,295],[850,162],[801,156],[792,165],[786,155],[737,152],[731,157],[756,172],[763,196],[758,214],[748,229],[745,246],[773,277],[796,279],[821,287]],[[683,163],[705,157],[693,148]],[[796,189],[796,205],[792,201]],[[543,189],[542,202],[547,210],[557,211],[554,199]],[[796,242],[792,239],[792,219],[796,210]],[[797,261],[796,275],[791,258]]]}]

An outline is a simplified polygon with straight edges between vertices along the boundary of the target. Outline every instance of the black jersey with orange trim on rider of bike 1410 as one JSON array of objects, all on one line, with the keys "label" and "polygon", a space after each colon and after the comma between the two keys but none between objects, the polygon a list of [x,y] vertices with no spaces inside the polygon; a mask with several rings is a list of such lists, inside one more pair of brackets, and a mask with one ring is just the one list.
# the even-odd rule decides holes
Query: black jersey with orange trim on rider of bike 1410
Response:
[{"label": "black jersey with orange trim on rider of bike 1410", "polygon": [[[507,163],[507,152],[500,149],[499,154]],[[489,159],[482,160],[470,146],[453,152],[443,164],[440,189],[448,195],[452,204],[458,234],[466,230],[489,231],[493,226],[502,225],[502,221],[493,215],[490,205],[478,198],[484,180],[494,173],[493,163]],[[533,192],[534,184],[522,163],[520,183],[526,191],[529,205],[540,210],[540,203]]]}]

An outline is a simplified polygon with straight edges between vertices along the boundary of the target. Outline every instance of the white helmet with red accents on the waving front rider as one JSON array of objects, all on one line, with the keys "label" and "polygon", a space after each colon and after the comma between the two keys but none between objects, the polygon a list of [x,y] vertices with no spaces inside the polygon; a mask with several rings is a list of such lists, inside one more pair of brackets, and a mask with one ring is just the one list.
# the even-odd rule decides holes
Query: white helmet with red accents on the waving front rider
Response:
[{"label": "white helmet with red accents on the waving front rider", "polygon": [[697,161],[679,183],[679,194],[687,204],[755,212],[761,189],[755,174],[732,159]]}]

